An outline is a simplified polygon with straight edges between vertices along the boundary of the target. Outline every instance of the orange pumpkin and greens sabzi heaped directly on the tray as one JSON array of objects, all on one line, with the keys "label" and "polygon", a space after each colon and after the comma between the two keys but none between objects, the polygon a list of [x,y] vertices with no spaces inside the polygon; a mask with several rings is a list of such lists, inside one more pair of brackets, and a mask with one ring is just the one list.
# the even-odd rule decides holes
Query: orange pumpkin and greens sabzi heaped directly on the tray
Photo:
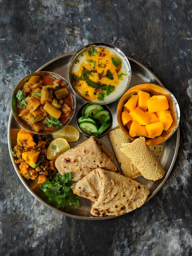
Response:
[{"label": "orange pumpkin and greens sabzi heaped directly on the tray", "polygon": [[11,149],[15,163],[19,164],[19,173],[27,180],[36,180],[43,183],[53,179],[58,172],[55,160],[46,158],[48,142],[52,140],[51,135],[36,135],[24,129],[17,134],[17,143]]}]

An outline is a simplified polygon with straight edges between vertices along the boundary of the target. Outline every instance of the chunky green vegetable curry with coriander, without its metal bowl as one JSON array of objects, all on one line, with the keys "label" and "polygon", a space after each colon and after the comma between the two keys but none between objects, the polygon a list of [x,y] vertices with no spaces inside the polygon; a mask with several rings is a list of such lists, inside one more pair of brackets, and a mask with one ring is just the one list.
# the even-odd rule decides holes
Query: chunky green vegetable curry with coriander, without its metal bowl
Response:
[{"label": "chunky green vegetable curry with coriander, without its metal bowl", "polygon": [[16,93],[18,116],[35,132],[54,132],[69,118],[72,96],[54,76],[31,76]]}]

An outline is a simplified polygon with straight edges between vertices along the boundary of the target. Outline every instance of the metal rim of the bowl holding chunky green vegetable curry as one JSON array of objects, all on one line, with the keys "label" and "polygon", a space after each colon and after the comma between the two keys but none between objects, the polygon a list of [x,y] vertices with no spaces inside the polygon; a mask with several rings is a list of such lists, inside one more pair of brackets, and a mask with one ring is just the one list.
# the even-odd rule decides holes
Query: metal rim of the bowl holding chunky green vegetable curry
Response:
[{"label": "metal rim of the bowl holding chunky green vegetable curry", "polygon": [[[72,112],[71,115],[69,116],[69,118],[67,119],[67,121],[65,122],[64,125],[60,126],[58,129],[50,132],[50,131],[40,131],[40,132],[36,132],[33,129],[30,129],[30,127],[27,126],[27,124],[25,124],[24,122],[21,121],[21,118],[18,117],[17,113],[16,113],[16,92],[22,88],[23,84],[25,82],[28,81],[28,79],[31,76],[35,76],[35,75],[52,75],[58,79],[60,79],[62,82],[66,83],[66,86],[69,90],[69,92],[71,93],[71,97],[72,97]],[[65,127],[73,118],[74,114],[75,114],[75,110],[76,110],[76,97],[75,97],[75,92],[72,88],[72,86],[70,85],[70,83],[62,76],[58,75],[57,73],[54,72],[50,72],[50,71],[37,71],[37,72],[33,72],[30,73],[29,75],[25,76],[24,78],[22,78],[19,83],[15,86],[13,93],[12,93],[12,98],[11,98],[11,108],[12,108],[12,114],[15,118],[15,120],[17,121],[17,123],[25,130],[27,130],[28,132],[34,133],[34,134],[39,134],[39,135],[48,135],[48,134],[52,134],[53,132],[57,132],[59,130],[61,130],[63,127]]]}]

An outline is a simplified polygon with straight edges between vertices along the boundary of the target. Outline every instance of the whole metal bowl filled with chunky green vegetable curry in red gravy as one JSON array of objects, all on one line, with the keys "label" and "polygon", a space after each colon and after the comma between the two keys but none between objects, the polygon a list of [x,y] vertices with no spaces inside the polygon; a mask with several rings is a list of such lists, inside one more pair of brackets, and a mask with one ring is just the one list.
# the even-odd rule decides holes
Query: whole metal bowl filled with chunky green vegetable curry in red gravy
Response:
[{"label": "whole metal bowl filled with chunky green vegetable curry in red gravy", "polygon": [[23,78],[12,94],[12,113],[26,130],[36,134],[59,131],[72,119],[75,93],[61,76],[39,71]]}]

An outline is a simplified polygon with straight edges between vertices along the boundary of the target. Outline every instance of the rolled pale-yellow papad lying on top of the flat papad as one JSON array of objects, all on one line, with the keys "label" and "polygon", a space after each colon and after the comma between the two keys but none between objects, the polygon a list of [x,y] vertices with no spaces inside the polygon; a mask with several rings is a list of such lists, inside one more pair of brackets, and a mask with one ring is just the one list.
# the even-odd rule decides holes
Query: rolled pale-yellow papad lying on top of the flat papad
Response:
[{"label": "rolled pale-yellow papad lying on top of the flat papad", "polygon": [[145,137],[132,141],[127,147],[121,148],[121,151],[131,159],[144,178],[156,181],[164,176],[164,168],[146,145]]}]

